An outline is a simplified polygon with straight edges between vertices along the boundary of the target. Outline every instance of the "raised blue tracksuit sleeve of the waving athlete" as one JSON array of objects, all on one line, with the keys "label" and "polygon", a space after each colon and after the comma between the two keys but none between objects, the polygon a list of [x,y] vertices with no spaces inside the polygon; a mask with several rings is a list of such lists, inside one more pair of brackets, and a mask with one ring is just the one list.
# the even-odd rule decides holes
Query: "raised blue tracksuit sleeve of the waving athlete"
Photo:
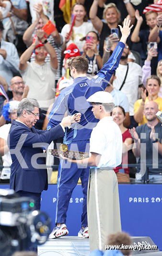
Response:
[{"label": "raised blue tracksuit sleeve of the waving athlete", "polygon": [[104,64],[99,73],[93,77],[93,82],[100,83],[102,81],[102,88],[105,89],[107,82],[110,80],[112,74],[116,71],[116,68],[119,65],[119,61],[123,52],[125,44],[119,42],[116,46],[116,49],[113,51],[112,55],[108,61]]}]

